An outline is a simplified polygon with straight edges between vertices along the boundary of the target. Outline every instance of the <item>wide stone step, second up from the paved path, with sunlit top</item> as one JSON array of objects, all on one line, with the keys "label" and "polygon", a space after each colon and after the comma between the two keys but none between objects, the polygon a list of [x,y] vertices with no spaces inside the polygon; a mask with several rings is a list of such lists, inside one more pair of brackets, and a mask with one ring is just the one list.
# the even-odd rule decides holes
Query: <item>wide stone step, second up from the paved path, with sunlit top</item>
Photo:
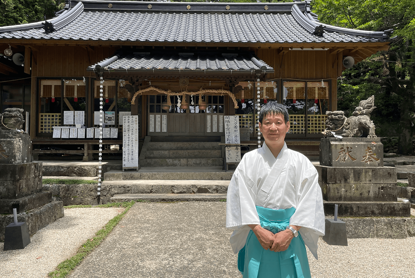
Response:
[{"label": "wide stone step, second up from the paved path, with sunlit top", "polygon": [[229,181],[217,180],[135,180],[135,181],[103,181],[101,194],[142,193],[220,193],[226,194]]}]

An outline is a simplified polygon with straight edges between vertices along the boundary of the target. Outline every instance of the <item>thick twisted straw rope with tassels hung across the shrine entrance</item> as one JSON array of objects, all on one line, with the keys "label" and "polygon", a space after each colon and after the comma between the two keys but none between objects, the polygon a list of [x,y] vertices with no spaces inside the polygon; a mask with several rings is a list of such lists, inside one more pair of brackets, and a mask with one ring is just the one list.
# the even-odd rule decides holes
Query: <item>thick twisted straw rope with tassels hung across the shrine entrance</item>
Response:
[{"label": "thick twisted straw rope with tassels hung across the shrine entrance", "polygon": [[232,92],[227,91],[227,90],[224,90],[224,89],[200,89],[198,92],[188,92],[188,91],[172,92],[170,90],[165,91],[165,90],[162,90],[162,89],[153,87],[153,86],[148,87],[148,88],[145,88],[145,89],[138,90],[134,94],[134,96],[132,97],[131,104],[135,104],[135,98],[138,95],[145,94],[146,92],[150,92],[150,91],[156,91],[156,92],[158,92],[160,94],[167,94],[168,95],[168,98],[167,98],[167,104],[168,105],[171,105],[170,96],[184,96],[186,94],[190,94],[190,95],[198,94],[199,95],[199,105],[200,105],[200,104],[202,104],[202,100],[201,100],[202,99],[202,97],[201,97],[202,95],[205,95],[205,94],[217,94],[217,95],[219,95],[220,94],[221,96],[223,96],[224,94],[227,94],[227,95],[229,95],[229,97],[231,97],[232,101],[234,102],[234,108],[235,109],[238,109],[239,108],[238,102],[237,102],[237,100],[235,98],[235,95],[232,94]]}]

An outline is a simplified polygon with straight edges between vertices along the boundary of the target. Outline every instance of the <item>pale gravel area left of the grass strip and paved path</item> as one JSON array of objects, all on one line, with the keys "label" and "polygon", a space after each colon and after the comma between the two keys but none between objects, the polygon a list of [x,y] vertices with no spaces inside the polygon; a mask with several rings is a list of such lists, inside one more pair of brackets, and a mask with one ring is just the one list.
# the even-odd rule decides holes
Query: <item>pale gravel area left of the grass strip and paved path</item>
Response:
[{"label": "pale gravel area left of the grass strip and paved path", "polygon": [[47,277],[59,263],[73,256],[81,244],[124,210],[65,209],[65,217],[34,234],[24,249],[3,251],[4,244],[0,242],[0,277]]}]

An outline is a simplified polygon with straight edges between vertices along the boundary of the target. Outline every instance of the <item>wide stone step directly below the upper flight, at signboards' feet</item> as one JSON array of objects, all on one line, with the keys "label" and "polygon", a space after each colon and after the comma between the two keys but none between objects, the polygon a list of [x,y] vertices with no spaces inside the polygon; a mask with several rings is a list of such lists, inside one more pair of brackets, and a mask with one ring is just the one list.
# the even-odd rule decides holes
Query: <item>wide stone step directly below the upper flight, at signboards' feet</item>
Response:
[{"label": "wide stone step directly below the upper flight, at signboards' feet", "polygon": [[126,180],[230,180],[233,171],[220,167],[142,167],[138,171],[111,170],[104,173],[105,181]]}]

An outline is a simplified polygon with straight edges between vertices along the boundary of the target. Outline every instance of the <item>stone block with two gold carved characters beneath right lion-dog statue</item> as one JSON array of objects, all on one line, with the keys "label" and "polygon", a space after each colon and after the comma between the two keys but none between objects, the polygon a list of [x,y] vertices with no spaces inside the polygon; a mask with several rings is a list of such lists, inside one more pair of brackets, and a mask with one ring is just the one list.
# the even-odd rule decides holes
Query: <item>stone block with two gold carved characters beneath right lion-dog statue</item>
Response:
[{"label": "stone block with two gold carved characters beneath right lion-dog statue", "polygon": [[332,167],[382,167],[379,138],[322,138],[320,165]]}]

